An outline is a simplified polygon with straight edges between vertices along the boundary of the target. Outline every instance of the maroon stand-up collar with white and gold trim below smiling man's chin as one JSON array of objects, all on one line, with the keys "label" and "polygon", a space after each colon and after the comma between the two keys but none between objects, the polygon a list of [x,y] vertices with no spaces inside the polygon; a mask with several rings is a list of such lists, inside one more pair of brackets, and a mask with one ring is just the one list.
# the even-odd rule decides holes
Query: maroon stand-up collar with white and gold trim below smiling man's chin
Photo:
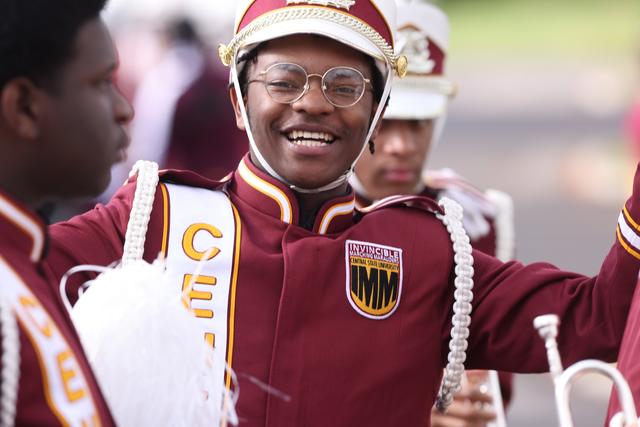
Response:
[{"label": "maroon stand-up collar with white and gold trim below smiling man's chin", "polygon": [[[258,169],[246,155],[234,172],[231,191],[258,211],[280,221],[300,225],[299,206],[295,193],[277,179]],[[313,232],[333,234],[353,224],[354,193],[325,202],[316,215]]]}]

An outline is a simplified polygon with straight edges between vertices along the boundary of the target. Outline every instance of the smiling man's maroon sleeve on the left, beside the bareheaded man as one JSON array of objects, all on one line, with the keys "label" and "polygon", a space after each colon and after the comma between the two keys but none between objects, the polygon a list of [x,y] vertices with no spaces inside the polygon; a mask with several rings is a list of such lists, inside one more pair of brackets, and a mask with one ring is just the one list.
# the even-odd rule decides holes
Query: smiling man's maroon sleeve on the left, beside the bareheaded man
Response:
[{"label": "smiling man's maroon sleeve on the left, beside the bareheaded man", "polygon": [[[75,266],[108,266],[120,261],[135,188],[135,181],[132,181],[122,187],[108,204],[97,205],[85,214],[49,227],[50,242],[44,269],[52,285],[57,286],[62,276]],[[162,212],[162,203],[158,188],[152,212]],[[156,227],[158,221],[162,222],[162,216],[152,215],[149,228]],[[151,244],[147,242],[145,245],[145,257],[153,253],[155,256],[151,259],[155,259],[159,248],[154,245],[147,250]],[[72,301],[77,295],[77,288],[94,277],[95,274],[78,273],[69,279],[67,293]]]}]

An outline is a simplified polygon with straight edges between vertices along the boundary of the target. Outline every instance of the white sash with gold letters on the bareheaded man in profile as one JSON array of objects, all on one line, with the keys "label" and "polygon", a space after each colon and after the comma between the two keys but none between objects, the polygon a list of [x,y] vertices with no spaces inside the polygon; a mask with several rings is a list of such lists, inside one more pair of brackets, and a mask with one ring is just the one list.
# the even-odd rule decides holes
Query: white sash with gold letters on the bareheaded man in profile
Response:
[{"label": "white sash with gold letters on the bareheaded man in profile", "polygon": [[37,297],[2,257],[0,283],[36,350],[52,412],[64,425],[100,425],[91,389],[71,347]]}]

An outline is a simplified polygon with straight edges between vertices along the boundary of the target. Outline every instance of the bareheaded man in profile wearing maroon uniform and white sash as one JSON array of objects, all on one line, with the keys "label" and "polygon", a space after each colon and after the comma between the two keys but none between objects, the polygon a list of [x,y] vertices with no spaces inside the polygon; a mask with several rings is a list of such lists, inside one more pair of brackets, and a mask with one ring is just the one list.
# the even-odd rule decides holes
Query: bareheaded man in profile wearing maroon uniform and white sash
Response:
[{"label": "bareheaded man in profile wearing maroon uniform and white sash", "polygon": [[113,425],[68,313],[42,272],[48,237],[37,213],[45,202],[99,194],[111,166],[123,160],[132,110],[113,85],[117,57],[100,19],[104,3],[2,3],[3,425]]}]

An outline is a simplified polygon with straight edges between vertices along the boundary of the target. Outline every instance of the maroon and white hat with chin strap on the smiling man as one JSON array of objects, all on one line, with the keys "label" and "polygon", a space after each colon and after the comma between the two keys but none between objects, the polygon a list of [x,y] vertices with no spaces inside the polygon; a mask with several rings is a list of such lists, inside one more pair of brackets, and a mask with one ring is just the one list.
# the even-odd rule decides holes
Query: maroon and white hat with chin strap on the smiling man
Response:
[{"label": "maroon and white hat with chin strap on the smiling man", "polygon": [[[364,141],[364,151],[391,90],[393,71],[403,76],[407,61],[394,53],[396,28],[395,0],[239,0],[235,34],[229,44],[220,45],[223,64],[231,67],[240,109],[251,148],[261,166],[274,178],[301,193],[317,193],[336,188],[353,173],[353,165],[335,181],[321,188],[300,188],[282,178],[266,161],[253,138],[238,82],[238,59],[257,43],[295,34],[317,34],[357,49],[376,60],[385,77],[382,98]],[[356,159],[357,160],[357,159]],[[355,164],[355,161],[354,163]]]}]

